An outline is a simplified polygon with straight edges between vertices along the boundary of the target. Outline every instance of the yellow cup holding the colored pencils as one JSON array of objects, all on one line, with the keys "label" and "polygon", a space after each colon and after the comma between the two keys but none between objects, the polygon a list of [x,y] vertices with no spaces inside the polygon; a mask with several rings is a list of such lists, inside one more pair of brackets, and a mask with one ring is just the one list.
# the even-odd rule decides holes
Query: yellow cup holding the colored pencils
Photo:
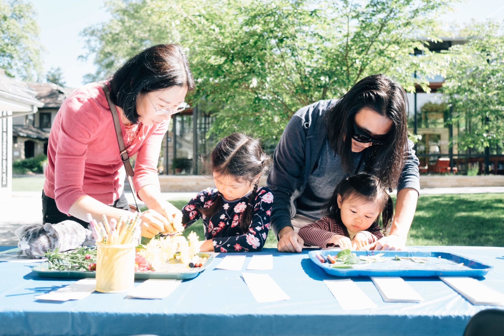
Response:
[{"label": "yellow cup holding the colored pencils", "polygon": [[97,244],[96,290],[127,292],[135,282],[135,244]]}]

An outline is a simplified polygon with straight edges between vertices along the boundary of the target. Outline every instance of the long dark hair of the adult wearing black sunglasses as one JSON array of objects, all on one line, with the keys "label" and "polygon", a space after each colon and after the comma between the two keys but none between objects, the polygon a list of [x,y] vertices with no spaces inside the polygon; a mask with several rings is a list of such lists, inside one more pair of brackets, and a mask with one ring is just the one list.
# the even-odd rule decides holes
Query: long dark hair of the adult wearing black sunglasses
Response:
[{"label": "long dark hair of the adult wearing black sunglasses", "polygon": [[384,75],[360,80],[325,116],[331,148],[341,157],[346,173],[354,173],[352,136],[355,114],[368,108],[392,120],[385,143],[370,146],[362,153],[365,171],[376,175],[386,186],[394,187],[404,166],[408,145],[408,99],[398,83]]}]

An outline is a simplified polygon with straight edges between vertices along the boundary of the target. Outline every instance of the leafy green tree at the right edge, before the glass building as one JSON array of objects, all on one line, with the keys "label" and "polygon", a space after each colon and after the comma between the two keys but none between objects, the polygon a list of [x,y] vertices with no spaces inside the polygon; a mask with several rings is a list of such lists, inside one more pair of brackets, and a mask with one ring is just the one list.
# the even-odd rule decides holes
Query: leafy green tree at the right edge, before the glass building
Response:
[{"label": "leafy green tree at the right edge, before the glass building", "polygon": [[468,43],[450,48],[454,61],[443,85],[453,105],[453,141],[478,152],[504,146],[504,25],[474,24],[461,32]]}]

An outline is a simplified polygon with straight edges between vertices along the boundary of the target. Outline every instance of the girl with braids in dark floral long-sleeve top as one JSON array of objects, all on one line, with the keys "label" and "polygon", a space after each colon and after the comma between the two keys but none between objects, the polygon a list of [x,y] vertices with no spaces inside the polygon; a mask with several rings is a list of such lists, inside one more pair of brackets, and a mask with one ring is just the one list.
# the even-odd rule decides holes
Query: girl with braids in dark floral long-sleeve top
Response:
[{"label": "girl with braids in dark floral long-sleeve top", "polygon": [[200,218],[205,228],[201,251],[260,251],[270,229],[273,194],[258,188],[271,158],[259,140],[241,133],[222,139],[206,164],[215,187],[199,192],[182,209],[182,224],[188,227]]}]

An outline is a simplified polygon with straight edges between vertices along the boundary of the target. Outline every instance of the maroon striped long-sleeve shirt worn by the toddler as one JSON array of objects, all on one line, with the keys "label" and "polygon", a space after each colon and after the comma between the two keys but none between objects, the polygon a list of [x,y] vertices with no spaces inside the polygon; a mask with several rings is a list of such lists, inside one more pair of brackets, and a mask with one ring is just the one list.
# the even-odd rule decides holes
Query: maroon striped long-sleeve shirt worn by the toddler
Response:
[{"label": "maroon striped long-sleeve shirt worn by the toddler", "polygon": [[[383,238],[383,233],[376,223],[373,223],[367,230],[360,232],[367,236],[369,244]],[[343,223],[336,222],[332,217],[322,217],[315,223],[303,226],[298,232],[299,237],[304,240],[305,246],[319,246],[320,248],[335,246],[333,243],[328,243],[335,234],[350,238]]]}]

